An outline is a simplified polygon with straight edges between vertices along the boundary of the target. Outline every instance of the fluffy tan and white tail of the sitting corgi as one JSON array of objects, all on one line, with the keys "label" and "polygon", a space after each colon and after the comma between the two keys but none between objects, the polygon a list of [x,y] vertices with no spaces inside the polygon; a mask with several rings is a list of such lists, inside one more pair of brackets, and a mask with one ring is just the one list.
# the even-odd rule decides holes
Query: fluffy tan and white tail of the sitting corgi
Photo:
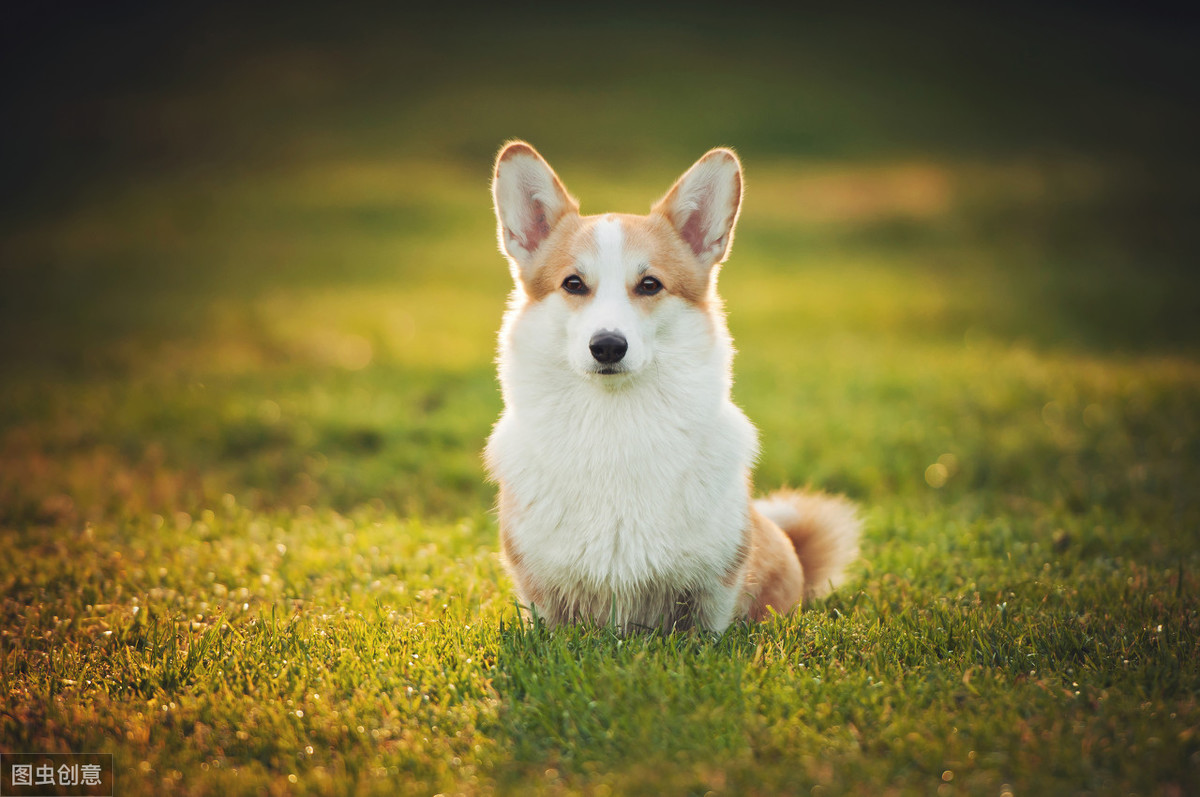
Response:
[{"label": "fluffy tan and white tail of the sitting corgi", "polygon": [[841,582],[846,565],[858,556],[863,527],[851,501],[823,492],[776,490],[754,505],[792,540],[804,571],[805,600],[828,594]]}]

